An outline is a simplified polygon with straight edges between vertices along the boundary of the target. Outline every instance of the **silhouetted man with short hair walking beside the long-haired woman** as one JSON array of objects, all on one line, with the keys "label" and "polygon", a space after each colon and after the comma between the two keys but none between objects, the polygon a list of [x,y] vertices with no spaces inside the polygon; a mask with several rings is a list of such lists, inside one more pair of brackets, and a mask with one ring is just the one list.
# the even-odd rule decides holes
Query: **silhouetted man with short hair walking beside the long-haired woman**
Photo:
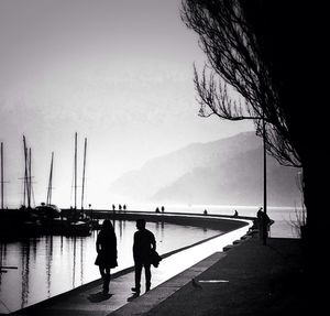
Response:
[{"label": "silhouetted man with short hair walking beside the long-haired woman", "polygon": [[145,292],[150,290],[151,286],[151,263],[153,250],[156,250],[155,236],[145,228],[145,220],[136,220],[138,231],[134,233],[133,243],[133,258],[135,265],[135,287],[132,291],[138,295],[141,288],[141,272],[144,266],[145,272]]}]

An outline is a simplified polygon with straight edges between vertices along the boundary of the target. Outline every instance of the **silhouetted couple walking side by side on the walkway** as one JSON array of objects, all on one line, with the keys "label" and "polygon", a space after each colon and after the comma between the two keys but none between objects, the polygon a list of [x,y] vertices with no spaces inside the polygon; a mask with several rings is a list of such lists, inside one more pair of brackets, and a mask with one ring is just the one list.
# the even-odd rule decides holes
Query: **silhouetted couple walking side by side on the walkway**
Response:
[{"label": "silhouetted couple walking side by side on the walkway", "polygon": [[[135,268],[135,286],[131,290],[140,295],[141,273],[144,266],[145,272],[145,292],[151,287],[151,264],[156,250],[156,241],[154,235],[145,228],[145,220],[136,220],[136,229],[133,242],[133,258]],[[102,224],[102,228],[97,237],[96,242],[97,259],[95,264],[99,266],[103,281],[103,294],[109,293],[110,270],[118,265],[117,262],[117,238],[113,226],[109,219]],[[156,258],[160,261],[160,258]]]}]

